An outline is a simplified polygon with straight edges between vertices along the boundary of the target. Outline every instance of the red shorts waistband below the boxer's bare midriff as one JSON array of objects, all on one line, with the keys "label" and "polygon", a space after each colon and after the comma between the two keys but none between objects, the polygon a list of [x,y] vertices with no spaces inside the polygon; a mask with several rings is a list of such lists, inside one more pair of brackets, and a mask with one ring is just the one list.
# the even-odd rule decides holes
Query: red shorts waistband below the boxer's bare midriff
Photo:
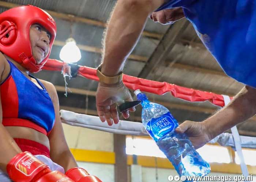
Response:
[{"label": "red shorts waistband below the boxer's bare midriff", "polygon": [[28,151],[33,155],[45,155],[50,158],[50,150],[41,143],[23,138],[14,138],[14,141],[23,152]]}]

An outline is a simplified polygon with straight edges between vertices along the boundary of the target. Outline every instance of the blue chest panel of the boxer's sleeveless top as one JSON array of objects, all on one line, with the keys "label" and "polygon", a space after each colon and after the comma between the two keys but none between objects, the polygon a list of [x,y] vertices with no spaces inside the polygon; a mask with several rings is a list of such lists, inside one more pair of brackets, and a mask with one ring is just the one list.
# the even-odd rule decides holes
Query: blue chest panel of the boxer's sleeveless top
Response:
[{"label": "blue chest panel of the boxer's sleeveless top", "polygon": [[16,89],[15,92],[18,95],[18,118],[30,120],[49,132],[54,125],[55,112],[48,92],[43,84],[34,76],[29,75],[31,78],[36,79],[42,88],[37,87],[14,64],[9,63],[11,66],[10,76],[16,85],[16,88],[12,89]]}]

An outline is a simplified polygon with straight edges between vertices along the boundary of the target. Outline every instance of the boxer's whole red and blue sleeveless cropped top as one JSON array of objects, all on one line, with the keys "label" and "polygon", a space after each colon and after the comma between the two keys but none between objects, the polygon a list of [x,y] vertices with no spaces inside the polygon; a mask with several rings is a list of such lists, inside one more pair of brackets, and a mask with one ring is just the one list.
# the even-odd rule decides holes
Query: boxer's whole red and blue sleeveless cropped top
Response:
[{"label": "boxer's whole red and blue sleeveless cropped top", "polygon": [[4,126],[33,128],[47,135],[52,130],[55,112],[52,99],[44,85],[34,76],[41,88],[10,64],[10,74],[1,83],[1,103]]}]

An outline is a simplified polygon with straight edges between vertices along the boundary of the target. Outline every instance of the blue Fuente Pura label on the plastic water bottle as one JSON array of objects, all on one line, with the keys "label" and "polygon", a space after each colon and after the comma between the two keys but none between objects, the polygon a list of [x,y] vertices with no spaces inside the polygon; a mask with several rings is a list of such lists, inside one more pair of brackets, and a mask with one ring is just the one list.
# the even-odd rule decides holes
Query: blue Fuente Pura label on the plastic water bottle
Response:
[{"label": "blue Fuente Pura label on the plastic water bottle", "polygon": [[178,126],[178,122],[173,118],[170,112],[159,116],[158,118],[152,118],[148,123],[146,130],[150,136],[157,142],[159,138],[174,131]]}]

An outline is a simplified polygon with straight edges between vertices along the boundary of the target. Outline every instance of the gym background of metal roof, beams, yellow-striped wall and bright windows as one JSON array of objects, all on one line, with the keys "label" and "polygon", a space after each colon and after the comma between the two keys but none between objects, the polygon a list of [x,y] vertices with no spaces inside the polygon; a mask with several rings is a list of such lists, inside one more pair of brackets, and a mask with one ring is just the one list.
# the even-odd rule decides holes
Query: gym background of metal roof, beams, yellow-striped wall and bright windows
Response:
[{"label": "gym background of metal roof, beams, yellow-striped wall and bright windows", "polygon": [[[27,4],[46,10],[57,23],[57,36],[50,58],[60,59],[65,40],[73,37],[82,54],[77,64],[96,68],[101,62],[101,41],[106,21],[115,3],[116,0],[6,0],[0,1],[0,12]],[[124,73],[229,96],[234,96],[243,87],[225,75],[186,19],[173,25],[161,25],[148,19],[138,45],[127,60]],[[67,80],[69,89],[66,97],[65,82],[60,72],[41,71],[34,75],[54,84],[61,109],[97,115],[97,82],[79,77]],[[185,120],[200,122],[219,109],[208,102],[189,103],[176,99],[169,93],[147,95],[151,101],[167,107],[180,123]],[[141,122],[140,113],[141,107],[138,107],[128,120]],[[256,117],[253,117],[238,125],[240,135],[256,137],[255,121]],[[116,135],[67,124],[63,127],[79,165],[103,182],[167,182],[169,175],[177,175],[149,137]],[[230,147],[206,145],[198,151],[210,162],[210,175],[241,175],[239,159]],[[243,152],[249,173],[255,175],[256,181],[256,150],[243,149]]]}]

